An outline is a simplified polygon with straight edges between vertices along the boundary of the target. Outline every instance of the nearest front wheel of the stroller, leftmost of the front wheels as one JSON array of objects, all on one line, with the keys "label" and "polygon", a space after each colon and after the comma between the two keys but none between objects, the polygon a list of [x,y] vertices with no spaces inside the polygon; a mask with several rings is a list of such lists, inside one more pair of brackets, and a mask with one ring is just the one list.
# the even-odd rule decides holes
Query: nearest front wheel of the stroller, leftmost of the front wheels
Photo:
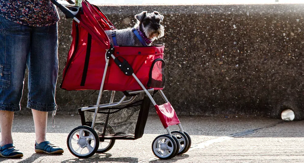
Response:
[{"label": "nearest front wheel of the stroller, leftmost of the front wheels", "polygon": [[177,150],[177,145],[168,134],[157,136],[152,142],[153,154],[162,160],[173,158]]}]

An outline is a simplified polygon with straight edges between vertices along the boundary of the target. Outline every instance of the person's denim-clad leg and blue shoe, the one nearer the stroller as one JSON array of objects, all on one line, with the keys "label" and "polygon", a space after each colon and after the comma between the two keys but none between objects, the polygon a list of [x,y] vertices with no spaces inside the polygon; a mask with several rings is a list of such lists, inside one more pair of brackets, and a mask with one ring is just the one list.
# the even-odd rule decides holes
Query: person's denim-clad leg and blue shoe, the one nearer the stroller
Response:
[{"label": "person's denim-clad leg and blue shoe, the one nearer the stroller", "polygon": [[29,68],[29,95],[27,107],[32,109],[35,123],[38,153],[61,154],[62,148],[46,141],[47,112],[56,109],[55,88],[58,73],[58,34],[57,24],[35,27],[31,35]]}]

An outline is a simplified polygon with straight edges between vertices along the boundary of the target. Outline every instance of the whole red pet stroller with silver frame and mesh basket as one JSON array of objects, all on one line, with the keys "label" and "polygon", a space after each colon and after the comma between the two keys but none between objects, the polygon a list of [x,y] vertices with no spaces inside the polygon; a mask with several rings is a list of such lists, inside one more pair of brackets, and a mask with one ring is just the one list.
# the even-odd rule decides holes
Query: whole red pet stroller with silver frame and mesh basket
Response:
[{"label": "whole red pet stroller with silver frame and mesh basket", "polygon": [[[95,106],[78,109],[82,126],[75,127],[68,135],[69,151],[78,158],[88,158],[96,152],[109,151],[116,139],[141,138],[151,102],[168,131],[152,142],[154,155],[169,159],[188,151],[191,138],[183,131],[173,107],[162,92],[165,83],[164,44],[112,46],[105,31],[116,28],[97,6],[86,0],[82,1],[81,8],[51,1],[67,19],[74,19],[71,47],[60,88],[99,90]],[[105,90],[112,91],[110,102],[100,104]],[[124,94],[119,102],[113,101],[116,91]],[[165,104],[155,103],[153,96],[157,92]],[[180,130],[170,131],[171,125],[178,125]]]}]

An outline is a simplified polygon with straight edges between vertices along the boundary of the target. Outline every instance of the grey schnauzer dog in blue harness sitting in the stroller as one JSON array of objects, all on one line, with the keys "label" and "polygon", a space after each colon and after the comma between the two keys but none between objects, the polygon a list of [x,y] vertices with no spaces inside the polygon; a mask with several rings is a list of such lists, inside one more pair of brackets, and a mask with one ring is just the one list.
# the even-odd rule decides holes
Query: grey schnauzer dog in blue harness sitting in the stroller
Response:
[{"label": "grey schnauzer dog in blue harness sitting in the stroller", "polygon": [[143,11],[135,15],[137,23],[133,28],[108,30],[108,35],[112,44],[119,46],[150,46],[155,39],[164,36],[164,26],[161,22],[164,16],[157,11],[147,13]]}]

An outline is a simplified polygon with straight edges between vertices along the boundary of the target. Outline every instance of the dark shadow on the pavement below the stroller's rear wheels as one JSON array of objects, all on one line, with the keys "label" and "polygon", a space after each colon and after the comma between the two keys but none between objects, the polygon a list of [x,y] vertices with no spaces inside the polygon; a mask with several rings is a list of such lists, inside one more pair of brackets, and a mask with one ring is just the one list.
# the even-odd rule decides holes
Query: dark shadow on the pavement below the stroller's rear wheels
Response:
[{"label": "dark shadow on the pavement below the stroller's rear wheels", "polygon": [[89,162],[89,163],[97,163],[97,162],[138,162],[138,158],[133,157],[118,157],[118,158],[111,158],[111,154],[109,153],[96,153],[95,155],[91,156],[90,158],[74,158],[69,160],[61,161],[61,163],[70,163],[70,162]]}]

